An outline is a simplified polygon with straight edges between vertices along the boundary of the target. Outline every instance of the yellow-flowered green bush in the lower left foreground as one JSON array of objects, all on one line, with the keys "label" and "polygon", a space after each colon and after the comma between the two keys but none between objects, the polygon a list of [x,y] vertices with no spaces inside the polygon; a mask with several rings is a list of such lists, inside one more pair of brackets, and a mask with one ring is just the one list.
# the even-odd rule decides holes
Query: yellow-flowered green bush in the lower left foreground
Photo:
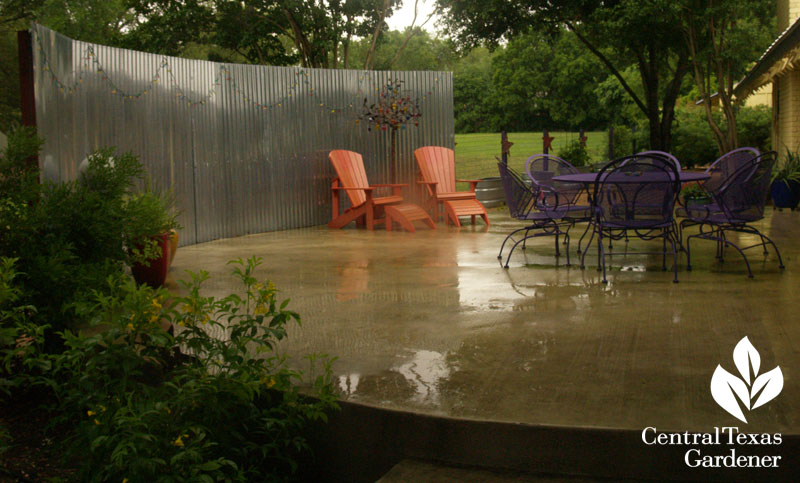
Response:
[{"label": "yellow-flowered green bush in the lower left foreground", "polygon": [[[8,294],[16,273],[3,262]],[[312,370],[321,365],[305,375],[316,398],[302,396],[304,375],[274,351],[298,314],[256,280],[260,260],[231,263],[244,296],[202,296],[207,273],[191,274],[188,295],[173,299],[110,277],[78,308],[90,327],[60,332],[57,354],[40,350],[41,333],[4,295],[3,318],[15,324],[0,334],[0,380],[52,394],[53,424],[70,429],[65,451],[81,480],[264,481],[297,470],[304,431],[335,407],[329,361],[310,357]]]}]

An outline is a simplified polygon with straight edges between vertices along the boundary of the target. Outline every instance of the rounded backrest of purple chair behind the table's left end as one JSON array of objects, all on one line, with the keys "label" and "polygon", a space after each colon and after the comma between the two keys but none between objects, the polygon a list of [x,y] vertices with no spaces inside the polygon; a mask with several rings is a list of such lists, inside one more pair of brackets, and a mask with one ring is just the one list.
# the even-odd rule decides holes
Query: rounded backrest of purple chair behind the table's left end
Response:
[{"label": "rounded backrest of purple chair behind the table's left end", "polygon": [[540,191],[537,203],[550,208],[574,203],[583,190],[583,185],[580,183],[553,181],[553,176],[577,174],[579,171],[567,161],[552,154],[534,154],[529,157],[525,161],[525,171],[534,187]]}]

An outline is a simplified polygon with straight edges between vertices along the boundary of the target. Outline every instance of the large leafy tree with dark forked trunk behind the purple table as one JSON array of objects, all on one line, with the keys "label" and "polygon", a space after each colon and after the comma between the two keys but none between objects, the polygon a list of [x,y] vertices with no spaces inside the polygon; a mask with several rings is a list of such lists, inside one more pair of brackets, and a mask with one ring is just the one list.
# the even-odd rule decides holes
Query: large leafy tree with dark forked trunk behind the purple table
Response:
[{"label": "large leafy tree with dark forked trunk behind the purple table", "polygon": [[[742,41],[747,44],[745,39],[749,35],[748,47],[761,49],[766,46],[764,39],[770,38],[767,19],[773,14],[765,8],[766,3],[745,0],[438,0],[446,14],[444,23],[453,38],[465,48],[480,44],[496,46],[523,35],[530,28],[544,32],[568,28],[617,79],[647,118],[650,147],[665,150],[672,141],[675,103],[681,93],[688,91],[684,83],[686,74],[693,67],[697,70],[699,65],[706,66],[701,69],[705,74],[701,72],[699,77],[695,76],[695,80],[706,87],[712,83],[724,87],[735,79],[736,73],[741,74],[742,67],[753,59],[749,55],[752,52],[745,52]],[[728,35],[728,32],[735,33]],[[691,33],[696,39],[694,51],[692,43],[687,41]],[[709,56],[715,49],[721,49],[724,60]],[[719,52],[716,55],[719,57]],[[631,67],[638,71],[640,89],[624,75]],[[735,125],[730,129],[735,133]]]}]

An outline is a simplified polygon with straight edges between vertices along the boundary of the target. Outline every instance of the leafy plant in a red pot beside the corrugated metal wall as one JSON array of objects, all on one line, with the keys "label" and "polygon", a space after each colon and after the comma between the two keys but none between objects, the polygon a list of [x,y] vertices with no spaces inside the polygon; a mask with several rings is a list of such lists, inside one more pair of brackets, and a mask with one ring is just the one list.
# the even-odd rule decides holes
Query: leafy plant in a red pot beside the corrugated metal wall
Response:
[{"label": "leafy plant in a red pot beside the corrugated metal wall", "polygon": [[172,259],[172,240],[177,242],[177,232],[172,232],[180,228],[172,195],[151,190],[130,195],[125,219],[133,278],[139,284],[163,285]]}]

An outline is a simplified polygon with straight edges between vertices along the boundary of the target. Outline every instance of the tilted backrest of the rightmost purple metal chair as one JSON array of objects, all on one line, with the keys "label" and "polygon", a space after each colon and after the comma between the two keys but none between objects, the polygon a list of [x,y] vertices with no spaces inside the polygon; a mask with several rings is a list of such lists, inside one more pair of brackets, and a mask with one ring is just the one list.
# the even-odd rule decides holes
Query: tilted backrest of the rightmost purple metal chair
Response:
[{"label": "tilted backrest of the rightmost purple metal chair", "polygon": [[764,217],[777,159],[775,151],[750,158],[722,182],[719,191],[711,194],[729,221],[752,222]]}]

